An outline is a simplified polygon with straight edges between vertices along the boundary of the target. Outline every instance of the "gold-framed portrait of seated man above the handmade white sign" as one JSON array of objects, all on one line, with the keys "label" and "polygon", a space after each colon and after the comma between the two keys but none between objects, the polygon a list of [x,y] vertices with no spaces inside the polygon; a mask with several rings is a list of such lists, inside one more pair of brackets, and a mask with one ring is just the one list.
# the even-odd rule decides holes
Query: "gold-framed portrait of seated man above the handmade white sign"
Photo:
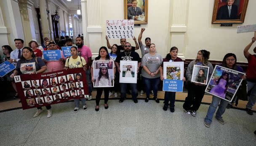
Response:
[{"label": "gold-framed portrait of seated man above the handmade white sign", "polygon": [[147,1],[124,0],[124,19],[133,19],[135,24],[146,24]]}]

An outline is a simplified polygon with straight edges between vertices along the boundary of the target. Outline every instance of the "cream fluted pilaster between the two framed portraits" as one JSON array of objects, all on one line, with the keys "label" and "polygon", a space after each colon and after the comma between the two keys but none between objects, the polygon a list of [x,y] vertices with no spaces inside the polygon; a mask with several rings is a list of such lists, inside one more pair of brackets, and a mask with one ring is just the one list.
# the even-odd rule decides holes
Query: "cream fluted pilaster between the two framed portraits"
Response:
[{"label": "cream fluted pilaster between the two framed portraits", "polygon": [[[171,8],[173,7],[173,8]],[[185,46],[185,33],[187,32],[187,12],[189,7],[188,0],[172,0],[170,3],[171,10],[171,47],[176,46],[179,48],[178,57],[185,59],[184,53]],[[168,48],[168,52],[170,48]]]}]

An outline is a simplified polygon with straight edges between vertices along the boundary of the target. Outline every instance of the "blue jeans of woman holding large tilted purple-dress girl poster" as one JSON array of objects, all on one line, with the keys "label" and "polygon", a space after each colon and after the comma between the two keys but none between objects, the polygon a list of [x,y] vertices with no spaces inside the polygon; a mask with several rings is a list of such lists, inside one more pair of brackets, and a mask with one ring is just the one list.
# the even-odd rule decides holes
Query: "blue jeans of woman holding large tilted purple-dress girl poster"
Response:
[{"label": "blue jeans of woman holding large tilted purple-dress girl poster", "polygon": [[[219,105],[219,102],[221,102],[220,105]],[[226,110],[226,107],[227,107],[227,104],[229,104],[229,102],[227,100],[220,99],[217,96],[213,96],[213,100],[212,100],[212,102],[211,102],[211,104],[208,108],[207,115],[205,117],[205,122],[211,124],[212,119],[213,119],[213,114],[216,111],[216,108],[218,107],[218,105],[219,105],[219,108],[216,112],[215,117],[217,119],[222,119],[221,116],[224,114],[224,112]]]}]

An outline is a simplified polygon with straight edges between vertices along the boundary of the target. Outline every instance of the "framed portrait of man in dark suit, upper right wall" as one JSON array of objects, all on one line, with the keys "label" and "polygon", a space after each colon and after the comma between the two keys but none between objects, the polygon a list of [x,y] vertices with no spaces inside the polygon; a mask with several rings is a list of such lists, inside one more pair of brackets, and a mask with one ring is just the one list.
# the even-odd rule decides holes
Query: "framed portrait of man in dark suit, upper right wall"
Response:
[{"label": "framed portrait of man in dark suit, upper right wall", "polygon": [[212,23],[243,23],[249,0],[215,0]]}]

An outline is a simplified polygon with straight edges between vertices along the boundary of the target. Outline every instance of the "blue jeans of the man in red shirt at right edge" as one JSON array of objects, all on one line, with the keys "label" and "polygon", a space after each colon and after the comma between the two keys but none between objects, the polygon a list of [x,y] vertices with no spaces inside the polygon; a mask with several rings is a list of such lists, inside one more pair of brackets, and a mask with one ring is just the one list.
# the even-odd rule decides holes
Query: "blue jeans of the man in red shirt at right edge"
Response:
[{"label": "blue jeans of the man in red shirt at right edge", "polygon": [[251,94],[249,96],[248,103],[246,104],[246,108],[251,110],[256,101],[256,83],[247,80],[247,91],[250,90]]}]

